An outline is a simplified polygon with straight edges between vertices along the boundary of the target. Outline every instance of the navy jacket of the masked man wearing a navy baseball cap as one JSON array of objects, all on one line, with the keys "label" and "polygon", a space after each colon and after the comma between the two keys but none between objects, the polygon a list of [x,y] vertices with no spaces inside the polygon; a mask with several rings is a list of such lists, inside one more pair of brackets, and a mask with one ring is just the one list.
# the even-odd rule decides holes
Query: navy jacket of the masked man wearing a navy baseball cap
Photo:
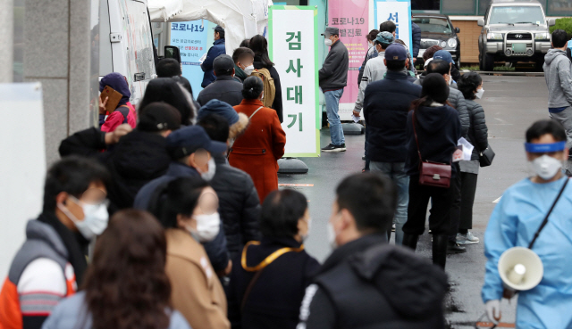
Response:
[{"label": "navy jacket of the masked man wearing a navy baseball cap", "polygon": [[[150,199],[159,186],[168,184],[172,180],[180,177],[199,176],[200,175],[196,169],[185,166],[180,162],[173,161],[171,162],[171,165],[169,165],[169,169],[167,169],[164,176],[150,181],[139,190],[139,193],[137,193],[137,196],[135,197],[133,208],[148,210],[149,206],[151,206],[149,204]],[[218,235],[216,235],[214,240],[210,243],[203,243],[203,246],[205,247],[208,259],[210,259],[215,271],[220,271],[227,267],[230,256],[229,251],[226,248],[226,236],[224,235],[223,220],[221,220],[221,229]]]}]

